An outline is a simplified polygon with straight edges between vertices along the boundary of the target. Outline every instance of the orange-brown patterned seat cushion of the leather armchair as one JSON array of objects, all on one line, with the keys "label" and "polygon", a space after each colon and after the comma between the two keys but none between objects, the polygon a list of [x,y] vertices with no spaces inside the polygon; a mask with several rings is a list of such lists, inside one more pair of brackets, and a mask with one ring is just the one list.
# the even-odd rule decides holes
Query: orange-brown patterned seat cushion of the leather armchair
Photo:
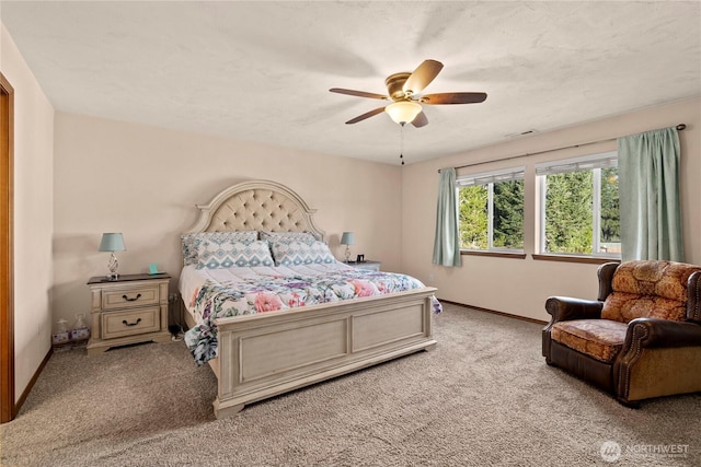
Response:
[{"label": "orange-brown patterned seat cushion of the leather armchair", "polygon": [[625,341],[628,325],[612,319],[572,319],[553,325],[552,340],[605,363],[611,363]]}]

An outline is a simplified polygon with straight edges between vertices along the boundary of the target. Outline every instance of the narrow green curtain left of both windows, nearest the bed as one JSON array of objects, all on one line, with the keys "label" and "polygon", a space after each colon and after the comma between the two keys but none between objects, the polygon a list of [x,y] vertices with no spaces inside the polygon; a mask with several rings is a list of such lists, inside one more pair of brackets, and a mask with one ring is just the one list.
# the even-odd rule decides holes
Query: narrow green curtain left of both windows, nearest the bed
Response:
[{"label": "narrow green curtain left of both windows, nearest the bed", "polygon": [[434,240],[434,265],[462,266],[457,203],[456,170],[452,167],[441,168],[436,212],[436,237]]}]

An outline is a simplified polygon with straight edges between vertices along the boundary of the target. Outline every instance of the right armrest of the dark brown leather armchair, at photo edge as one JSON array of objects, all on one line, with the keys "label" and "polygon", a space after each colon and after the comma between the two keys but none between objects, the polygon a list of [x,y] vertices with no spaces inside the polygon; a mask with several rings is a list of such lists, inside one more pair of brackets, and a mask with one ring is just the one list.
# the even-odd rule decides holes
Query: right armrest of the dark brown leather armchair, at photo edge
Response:
[{"label": "right armrest of the dark brown leather armchair, at photo edge", "polygon": [[628,324],[622,352],[631,347],[701,347],[701,325],[659,318],[635,318]]}]

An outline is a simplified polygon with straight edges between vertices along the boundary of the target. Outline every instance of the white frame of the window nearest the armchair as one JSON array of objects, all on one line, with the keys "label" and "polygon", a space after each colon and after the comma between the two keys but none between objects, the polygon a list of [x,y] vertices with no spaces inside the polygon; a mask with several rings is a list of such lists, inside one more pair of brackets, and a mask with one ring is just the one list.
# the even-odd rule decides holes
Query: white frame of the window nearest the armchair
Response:
[{"label": "white frame of the window nearest the armchair", "polygon": [[[538,183],[538,211],[539,211],[539,253],[542,255],[587,256],[594,258],[620,259],[620,253],[599,253],[601,246],[601,168],[618,167],[618,151],[608,151],[581,157],[564,159],[559,161],[541,162],[536,164],[536,180]],[[591,249],[589,254],[573,254],[561,252],[545,252],[545,176],[577,171],[593,171],[593,215]]]}]

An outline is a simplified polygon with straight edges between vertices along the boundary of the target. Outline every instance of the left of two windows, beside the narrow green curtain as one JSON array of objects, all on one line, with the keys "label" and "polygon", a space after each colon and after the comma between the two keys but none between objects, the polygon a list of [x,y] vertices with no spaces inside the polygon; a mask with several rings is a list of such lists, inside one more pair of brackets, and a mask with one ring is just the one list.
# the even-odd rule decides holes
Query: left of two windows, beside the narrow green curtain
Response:
[{"label": "left of two windows, beside the narrow green curtain", "polygon": [[525,167],[459,176],[460,248],[524,250]]}]

